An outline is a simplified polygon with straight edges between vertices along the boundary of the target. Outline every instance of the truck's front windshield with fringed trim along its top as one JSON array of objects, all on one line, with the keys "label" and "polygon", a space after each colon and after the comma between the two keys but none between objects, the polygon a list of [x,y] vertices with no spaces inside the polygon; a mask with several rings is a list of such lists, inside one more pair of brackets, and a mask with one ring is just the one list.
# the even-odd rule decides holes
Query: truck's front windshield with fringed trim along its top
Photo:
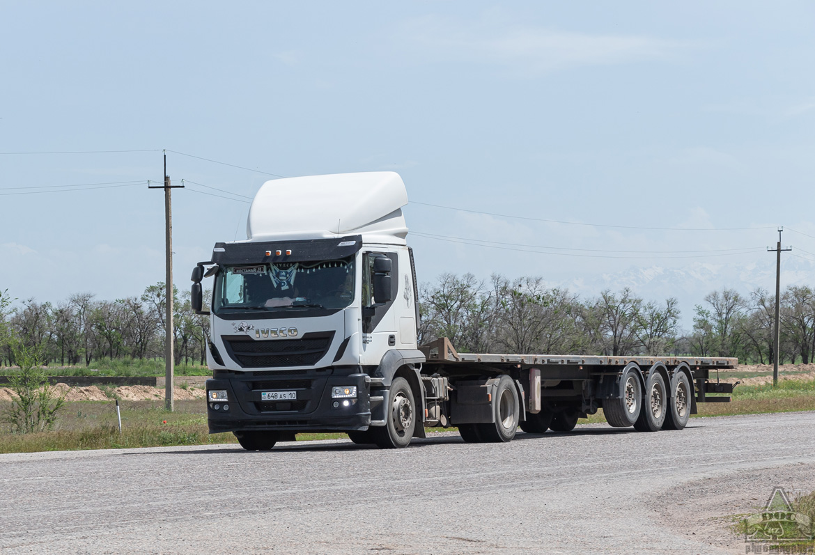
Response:
[{"label": "truck's front windshield with fringed trim along its top", "polygon": [[340,309],[354,300],[354,258],[224,266],[214,311]]}]

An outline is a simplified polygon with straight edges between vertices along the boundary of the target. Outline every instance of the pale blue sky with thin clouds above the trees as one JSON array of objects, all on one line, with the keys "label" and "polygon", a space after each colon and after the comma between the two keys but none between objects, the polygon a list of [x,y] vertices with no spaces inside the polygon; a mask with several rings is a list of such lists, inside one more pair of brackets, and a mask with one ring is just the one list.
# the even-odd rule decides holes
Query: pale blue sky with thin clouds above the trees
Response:
[{"label": "pale blue sky with thin clouds above the trees", "polygon": [[406,183],[420,282],[628,286],[689,327],[710,291],[774,288],[783,226],[782,286],[815,286],[812,2],[0,0],[0,20],[20,301],[165,279],[165,150],[181,289],[267,179],[375,170]]}]

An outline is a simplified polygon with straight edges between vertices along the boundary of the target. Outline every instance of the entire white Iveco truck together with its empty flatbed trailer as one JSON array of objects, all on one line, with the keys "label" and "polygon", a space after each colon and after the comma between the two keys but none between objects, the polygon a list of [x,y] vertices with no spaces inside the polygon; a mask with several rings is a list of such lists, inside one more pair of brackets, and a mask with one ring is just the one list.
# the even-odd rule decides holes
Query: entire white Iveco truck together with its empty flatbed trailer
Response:
[{"label": "entire white Iveco truck together with its empty flatbed trailer", "polygon": [[[682,429],[696,403],[726,402],[707,380],[736,359],[458,354],[416,345],[416,270],[392,172],[268,181],[247,240],[216,243],[192,272],[192,304],[211,313],[209,432],[249,450],[297,432],[406,447],[425,426],[466,442],[567,432],[603,409],[613,426]],[[201,281],[214,277],[211,310]]]}]

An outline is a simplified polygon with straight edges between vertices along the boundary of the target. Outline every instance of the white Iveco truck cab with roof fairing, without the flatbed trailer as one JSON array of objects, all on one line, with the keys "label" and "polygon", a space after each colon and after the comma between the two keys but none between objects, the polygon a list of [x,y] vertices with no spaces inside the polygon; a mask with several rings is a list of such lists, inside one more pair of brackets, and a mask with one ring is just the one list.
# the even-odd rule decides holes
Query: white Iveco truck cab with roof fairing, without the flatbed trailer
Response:
[{"label": "white Iveco truck cab with roof fairing, without the flatbed trailer", "polygon": [[200,312],[201,282],[214,278],[210,433],[233,432],[247,448],[306,431],[385,447],[422,434],[425,358],[406,204],[393,172],[263,184],[248,239],[215,244],[192,275]]}]

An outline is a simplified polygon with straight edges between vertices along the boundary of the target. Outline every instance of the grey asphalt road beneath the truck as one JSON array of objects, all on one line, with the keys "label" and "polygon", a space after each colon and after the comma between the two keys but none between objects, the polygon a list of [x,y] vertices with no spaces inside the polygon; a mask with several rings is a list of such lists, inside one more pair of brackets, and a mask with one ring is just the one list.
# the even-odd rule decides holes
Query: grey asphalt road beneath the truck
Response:
[{"label": "grey asphalt road beneath the truck", "polygon": [[[781,471],[790,482],[811,478],[813,461],[815,412],[692,419],[655,434],[585,425],[519,432],[509,444],[447,435],[397,451],[338,440],[263,453],[0,455],[0,549],[745,553],[724,524],[693,527],[694,495],[738,483],[738,499],[722,508],[733,513],[769,496]],[[704,499],[715,513],[716,499]]]}]

